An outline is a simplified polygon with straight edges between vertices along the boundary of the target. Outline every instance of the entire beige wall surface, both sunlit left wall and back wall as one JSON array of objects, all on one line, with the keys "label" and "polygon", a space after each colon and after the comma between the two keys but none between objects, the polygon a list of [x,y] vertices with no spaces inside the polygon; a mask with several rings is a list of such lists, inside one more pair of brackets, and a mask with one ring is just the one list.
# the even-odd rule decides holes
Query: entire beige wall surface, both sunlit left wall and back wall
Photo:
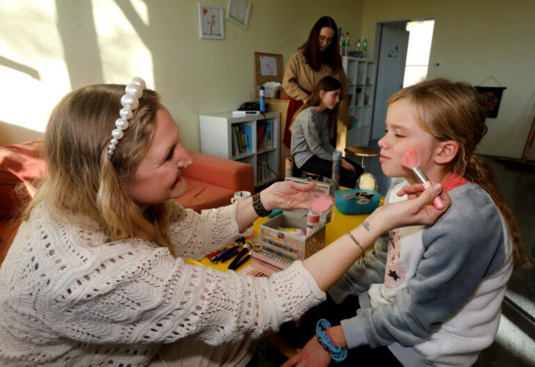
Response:
[{"label": "entire beige wall surface, both sunlit left wall and back wall", "polygon": [[442,68],[431,67],[429,77],[479,84],[492,75],[506,86],[479,150],[520,157],[534,115],[534,13],[532,0],[256,0],[249,29],[226,21],[224,40],[205,40],[193,0],[3,0],[0,143],[26,140],[16,125],[42,132],[73,88],[139,75],[162,94],[187,148],[198,151],[199,114],[254,97],[255,51],[282,54],[286,64],[321,15],[334,17],[353,42],[367,38],[370,50],[377,22],[435,17],[431,64]]}]

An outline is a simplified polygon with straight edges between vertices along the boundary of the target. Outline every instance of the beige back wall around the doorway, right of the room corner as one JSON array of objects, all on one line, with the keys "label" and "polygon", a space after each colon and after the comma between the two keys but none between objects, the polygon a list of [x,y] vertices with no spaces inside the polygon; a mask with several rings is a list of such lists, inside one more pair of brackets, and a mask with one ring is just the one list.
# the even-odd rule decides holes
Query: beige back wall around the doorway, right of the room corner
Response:
[{"label": "beige back wall around the doorway, right of the room corner", "polygon": [[[479,153],[520,158],[535,111],[535,1],[364,0],[362,38],[374,47],[375,24],[434,17],[428,78],[506,86],[497,118],[488,119]],[[497,86],[488,81],[485,86]]]}]

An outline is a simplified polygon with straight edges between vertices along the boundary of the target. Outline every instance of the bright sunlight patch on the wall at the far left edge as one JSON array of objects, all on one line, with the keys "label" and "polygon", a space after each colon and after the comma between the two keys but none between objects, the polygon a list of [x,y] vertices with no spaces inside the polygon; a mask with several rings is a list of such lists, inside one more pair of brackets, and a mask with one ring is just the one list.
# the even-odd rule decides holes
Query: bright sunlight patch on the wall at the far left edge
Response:
[{"label": "bright sunlight patch on the wall at the far left edge", "polygon": [[0,18],[0,120],[43,132],[70,90],[55,1],[1,1]]}]

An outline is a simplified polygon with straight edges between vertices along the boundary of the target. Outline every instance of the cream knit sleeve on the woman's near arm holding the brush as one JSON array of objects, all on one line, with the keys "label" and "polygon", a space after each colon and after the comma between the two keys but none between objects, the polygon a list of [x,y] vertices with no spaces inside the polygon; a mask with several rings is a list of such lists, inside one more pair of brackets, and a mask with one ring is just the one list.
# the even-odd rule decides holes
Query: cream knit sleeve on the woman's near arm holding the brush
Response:
[{"label": "cream knit sleeve on the woman's near arm holding the brush", "polygon": [[[60,255],[60,253],[58,253]],[[85,263],[65,263],[49,288],[49,327],[90,343],[210,345],[258,338],[325,299],[302,263],[270,279],[174,259],[150,243],[101,245]],[[40,303],[46,306],[46,303]]]}]

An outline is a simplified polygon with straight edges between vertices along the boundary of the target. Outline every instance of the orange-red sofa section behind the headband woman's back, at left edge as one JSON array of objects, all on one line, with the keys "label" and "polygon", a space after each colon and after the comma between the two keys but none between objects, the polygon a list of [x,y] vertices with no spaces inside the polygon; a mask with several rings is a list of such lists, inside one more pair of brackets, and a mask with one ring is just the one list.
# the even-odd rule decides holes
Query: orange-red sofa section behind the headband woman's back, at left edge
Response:
[{"label": "orange-red sofa section behind the headband woman's back, at left edge", "polygon": [[46,171],[41,152],[40,140],[0,147],[0,219],[20,208],[15,187],[21,182],[31,197],[36,193],[34,181]]}]

